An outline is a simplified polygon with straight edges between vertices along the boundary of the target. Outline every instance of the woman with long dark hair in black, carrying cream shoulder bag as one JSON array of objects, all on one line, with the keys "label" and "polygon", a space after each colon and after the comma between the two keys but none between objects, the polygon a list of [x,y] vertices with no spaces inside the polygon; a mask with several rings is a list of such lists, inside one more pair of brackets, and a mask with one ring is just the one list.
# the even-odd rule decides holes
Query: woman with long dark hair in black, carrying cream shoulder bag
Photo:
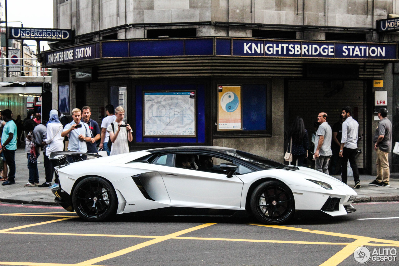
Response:
[{"label": "woman with long dark hair in black, carrying cream shoulder bag", "polygon": [[[296,117],[288,131],[291,147],[292,164],[303,166],[303,161],[308,158],[309,138],[302,117]],[[292,145],[291,145],[292,142]]]}]

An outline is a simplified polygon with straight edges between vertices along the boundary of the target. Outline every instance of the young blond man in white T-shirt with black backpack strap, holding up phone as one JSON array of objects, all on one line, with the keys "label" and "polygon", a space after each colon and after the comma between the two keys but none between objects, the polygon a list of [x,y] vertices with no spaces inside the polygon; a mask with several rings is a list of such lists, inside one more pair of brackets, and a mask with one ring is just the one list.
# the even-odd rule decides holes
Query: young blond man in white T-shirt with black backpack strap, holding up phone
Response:
[{"label": "young blond man in white T-shirt with black backpack strap, holding up phone", "polygon": [[115,115],[117,119],[107,127],[109,132],[109,139],[111,139],[111,152],[110,155],[122,154],[129,152],[128,140],[133,140],[132,128],[129,124],[123,122],[124,109],[122,106],[115,108]]}]

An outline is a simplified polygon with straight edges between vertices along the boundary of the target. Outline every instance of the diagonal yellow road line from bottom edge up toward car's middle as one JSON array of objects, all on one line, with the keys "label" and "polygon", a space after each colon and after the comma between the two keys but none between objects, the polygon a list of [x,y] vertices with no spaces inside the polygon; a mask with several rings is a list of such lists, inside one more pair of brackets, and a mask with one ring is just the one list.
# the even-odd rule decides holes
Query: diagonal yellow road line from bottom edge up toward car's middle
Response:
[{"label": "diagonal yellow road line from bottom edge up toward car's middle", "polygon": [[185,229],[185,230],[181,230],[181,231],[178,231],[178,232],[175,232],[175,233],[172,233],[172,234],[167,234],[166,236],[160,236],[160,237],[158,237],[158,238],[148,240],[148,241],[146,241],[146,242],[143,242],[143,243],[140,243],[140,244],[131,246],[131,247],[129,247],[129,248],[124,248],[124,249],[122,249],[122,250],[119,250],[119,251],[116,251],[116,252],[113,252],[113,253],[110,253],[110,254],[107,254],[107,255],[98,257],[98,258],[93,258],[93,259],[91,259],[91,260],[86,260],[86,261],[84,261],[84,262],[77,263],[77,264],[75,264],[75,266],[92,265],[92,264],[101,262],[101,261],[103,261],[103,260],[109,260],[109,259],[111,259],[111,258],[115,258],[115,257],[117,257],[117,256],[121,256],[121,255],[124,255],[124,254],[126,254],[126,253],[132,252],[132,251],[134,251],[134,250],[138,250],[138,249],[140,249],[140,248],[144,248],[144,247],[146,247],[146,246],[150,246],[150,245],[152,245],[152,244],[156,244],[156,243],[159,243],[159,242],[168,240],[168,239],[170,239],[170,238],[173,238],[173,237],[176,237],[176,236],[180,236],[180,235],[182,235],[182,234],[187,234],[187,233],[189,233],[189,232],[193,232],[193,231],[195,231],[195,230],[202,229],[202,228],[205,228],[205,227],[207,227],[207,226],[211,226],[211,225],[213,225],[213,224],[215,224],[215,223],[201,224],[201,225],[199,225],[199,226],[195,226],[195,227],[192,227],[192,228],[188,228],[188,229]]}]

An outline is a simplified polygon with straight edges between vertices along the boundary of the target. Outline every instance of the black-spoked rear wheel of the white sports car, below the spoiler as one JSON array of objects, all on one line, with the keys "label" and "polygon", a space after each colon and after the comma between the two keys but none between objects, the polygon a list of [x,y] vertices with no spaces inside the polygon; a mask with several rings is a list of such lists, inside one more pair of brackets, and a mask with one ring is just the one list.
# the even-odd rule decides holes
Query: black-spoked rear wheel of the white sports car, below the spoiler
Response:
[{"label": "black-spoked rear wheel of the white sports car, below the spoiler", "polygon": [[83,220],[101,222],[115,216],[118,199],[111,183],[100,177],[86,177],[76,185],[72,204]]}]

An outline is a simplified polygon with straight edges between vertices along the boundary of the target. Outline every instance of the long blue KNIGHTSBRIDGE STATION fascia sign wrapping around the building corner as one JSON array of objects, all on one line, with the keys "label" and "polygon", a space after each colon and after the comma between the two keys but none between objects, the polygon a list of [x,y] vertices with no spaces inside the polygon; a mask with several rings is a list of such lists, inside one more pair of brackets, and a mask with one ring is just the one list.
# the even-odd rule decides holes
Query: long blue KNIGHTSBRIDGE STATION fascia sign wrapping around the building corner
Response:
[{"label": "long blue KNIGHTSBRIDGE STATION fascia sign wrapping around the building corner", "polygon": [[176,56],[232,56],[397,60],[397,45],[387,43],[277,41],[250,38],[192,38],[99,41],[45,53],[45,66],[82,60]]}]

